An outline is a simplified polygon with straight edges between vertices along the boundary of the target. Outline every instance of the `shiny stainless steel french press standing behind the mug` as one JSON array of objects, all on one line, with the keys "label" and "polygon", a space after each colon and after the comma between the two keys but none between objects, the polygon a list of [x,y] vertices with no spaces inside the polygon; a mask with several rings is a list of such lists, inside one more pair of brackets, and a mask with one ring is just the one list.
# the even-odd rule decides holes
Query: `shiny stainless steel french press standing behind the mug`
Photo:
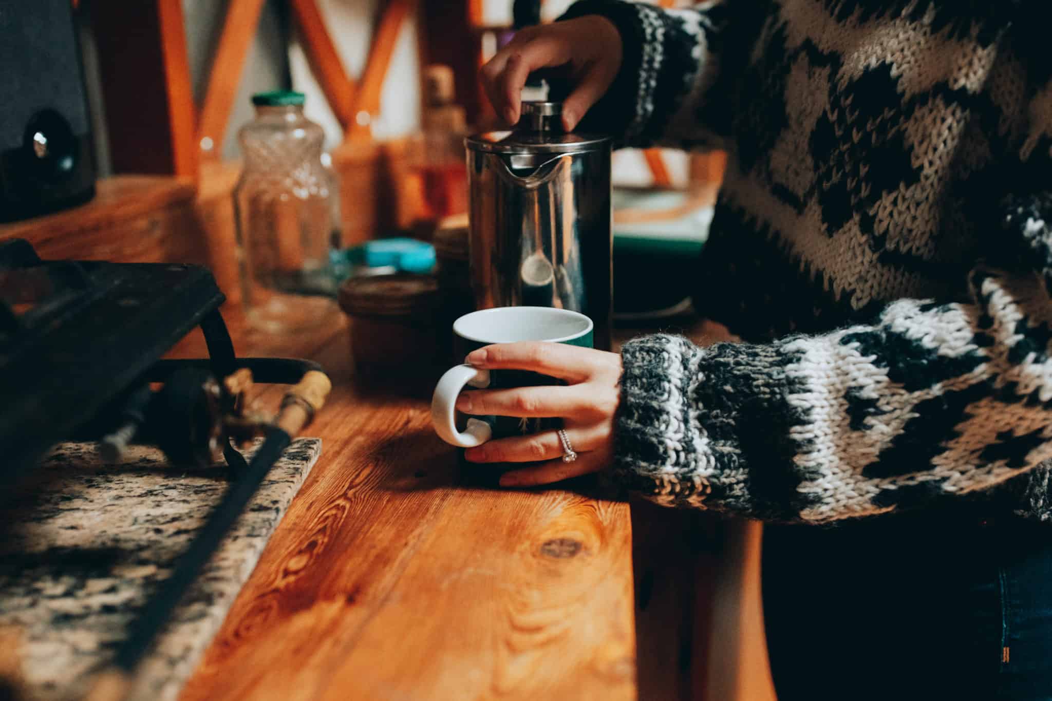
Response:
[{"label": "shiny stainless steel french press standing behind the mug", "polygon": [[594,324],[595,347],[609,350],[610,139],[566,132],[559,102],[524,102],[514,129],[466,146],[476,308],[580,311]]}]

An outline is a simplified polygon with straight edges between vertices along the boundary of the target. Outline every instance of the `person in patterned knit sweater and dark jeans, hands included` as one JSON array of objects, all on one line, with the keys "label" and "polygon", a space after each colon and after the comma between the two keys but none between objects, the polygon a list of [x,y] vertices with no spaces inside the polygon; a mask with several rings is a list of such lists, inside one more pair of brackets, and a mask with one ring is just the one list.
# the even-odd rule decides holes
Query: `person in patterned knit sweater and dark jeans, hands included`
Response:
[{"label": "person in patterned knit sweater and dark jeans, hands included", "polygon": [[504,484],[603,471],[811,524],[765,547],[784,699],[1052,699],[1041,4],[583,0],[483,68],[508,123],[527,76],[559,69],[567,129],[728,152],[693,301],[743,343],[492,346],[467,360],[567,386],[458,407],[563,418],[576,460],[555,433],[466,452],[525,463]]}]

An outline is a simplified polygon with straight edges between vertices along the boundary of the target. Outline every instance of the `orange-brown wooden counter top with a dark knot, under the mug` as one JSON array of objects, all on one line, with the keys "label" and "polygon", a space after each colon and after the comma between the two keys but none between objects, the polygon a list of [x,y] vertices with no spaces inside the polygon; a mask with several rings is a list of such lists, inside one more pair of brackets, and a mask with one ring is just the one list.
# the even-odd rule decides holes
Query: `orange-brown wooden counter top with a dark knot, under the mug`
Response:
[{"label": "orange-brown wooden counter top with a dark knot, under the mug", "polygon": [[638,697],[627,503],[472,486],[427,394],[362,387],[346,322],[280,338],[225,316],[240,355],[319,360],[333,391],[305,432],[321,459],[182,701]]}]

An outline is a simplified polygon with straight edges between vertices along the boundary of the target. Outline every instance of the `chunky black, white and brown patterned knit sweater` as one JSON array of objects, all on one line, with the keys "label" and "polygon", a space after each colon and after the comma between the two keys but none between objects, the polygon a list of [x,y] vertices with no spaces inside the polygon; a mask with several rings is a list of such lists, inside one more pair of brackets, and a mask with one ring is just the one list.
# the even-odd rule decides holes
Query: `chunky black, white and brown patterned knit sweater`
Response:
[{"label": "chunky black, white and brown patterned knit sweater", "polygon": [[623,349],[614,475],[831,522],[1052,519],[1052,59],[1034,0],[585,0],[624,63],[583,128],[723,148],[695,307]]}]

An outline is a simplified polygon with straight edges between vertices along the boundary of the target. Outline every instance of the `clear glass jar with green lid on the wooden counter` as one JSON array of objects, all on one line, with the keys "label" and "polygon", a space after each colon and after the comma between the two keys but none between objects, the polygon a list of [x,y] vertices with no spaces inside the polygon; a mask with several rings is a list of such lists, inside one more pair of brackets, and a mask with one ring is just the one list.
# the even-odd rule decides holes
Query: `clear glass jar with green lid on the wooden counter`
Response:
[{"label": "clear glass jar with green lid on the wooden counter", "polygon": [[330,254],[340,245],[339,192],[323,163],[322,127],[302,92],[252,96],[238,132],[244,167],[234,190],[238,262],[252,328],[298,331],[338,314]]}]

